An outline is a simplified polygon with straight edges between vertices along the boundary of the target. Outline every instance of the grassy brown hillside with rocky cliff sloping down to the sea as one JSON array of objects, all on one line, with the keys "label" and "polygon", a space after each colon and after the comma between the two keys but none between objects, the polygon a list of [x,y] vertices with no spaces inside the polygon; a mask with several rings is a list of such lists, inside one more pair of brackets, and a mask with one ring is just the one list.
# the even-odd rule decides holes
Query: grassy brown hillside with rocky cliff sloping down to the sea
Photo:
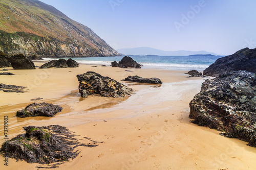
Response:
[{"label": "grassy brown hillside with rocky cliff sloping down to the sea", "polygon": [[0,2],[0,50],[41,57],[118,56],[90,28],[36,0]]}]

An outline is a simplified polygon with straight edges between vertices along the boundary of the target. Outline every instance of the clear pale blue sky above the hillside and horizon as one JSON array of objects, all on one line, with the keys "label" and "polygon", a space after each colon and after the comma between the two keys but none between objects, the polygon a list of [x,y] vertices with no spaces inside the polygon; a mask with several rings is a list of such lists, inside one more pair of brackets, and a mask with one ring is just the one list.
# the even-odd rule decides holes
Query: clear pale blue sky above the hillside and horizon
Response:
[{"label": "clear pale blue sky above the hillside and horizon", "polygon": [[231,55],[256,47],[255,0],[40,0],[110,46]]}]

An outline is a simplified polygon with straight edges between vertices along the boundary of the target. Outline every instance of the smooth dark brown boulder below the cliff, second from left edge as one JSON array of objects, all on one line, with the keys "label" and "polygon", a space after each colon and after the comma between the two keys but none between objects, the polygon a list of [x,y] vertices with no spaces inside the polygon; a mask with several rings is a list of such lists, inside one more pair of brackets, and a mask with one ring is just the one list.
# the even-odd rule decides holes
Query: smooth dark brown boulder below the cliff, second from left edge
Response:
[{"label": "smooth dark brown boulder below the cliff, second from left edge", "polygon": [[17,54],[8,58],[14,69],[35,69],[35,64],[23,54]]}]

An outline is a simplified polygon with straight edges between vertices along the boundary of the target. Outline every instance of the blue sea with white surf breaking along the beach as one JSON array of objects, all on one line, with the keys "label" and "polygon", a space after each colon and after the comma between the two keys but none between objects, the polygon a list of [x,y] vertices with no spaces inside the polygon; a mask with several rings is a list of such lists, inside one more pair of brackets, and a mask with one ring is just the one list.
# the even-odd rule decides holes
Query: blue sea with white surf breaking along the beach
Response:
[{"label": "blue sea with white surf breaking along the beach", "polygon": [[[170,69],[170,70],[192,70],[203,71],[209,65],[214,63],[218,58],[224,56],[212,56],[212,55],[191,55],[191,56],[135,56],[129,55],[137,63],[143,65],[143,68],[151,69]],[[119,62],[124,56],[118,57],[84,57],[84,58],[72,58],[79,64],[90,65],[106,65],[111,66],[111,62]],[[59,59],[59,58],[56,58]],[[63,58],[68,59],[68,58]],[[44,60],[53,60],[52,58],[44,58]]]}]

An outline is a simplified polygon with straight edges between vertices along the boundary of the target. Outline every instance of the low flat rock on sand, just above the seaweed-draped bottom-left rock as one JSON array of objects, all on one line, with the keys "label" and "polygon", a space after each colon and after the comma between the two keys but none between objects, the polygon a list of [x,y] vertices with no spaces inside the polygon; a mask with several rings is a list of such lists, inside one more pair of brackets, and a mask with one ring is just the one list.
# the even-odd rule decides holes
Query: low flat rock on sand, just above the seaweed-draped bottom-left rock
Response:
[{"label": "low flat rock on sand, just above the seaweed-draped bottom-left rock", "polygon": [[32,103],[25,109],[17,111],[17,117],[35,117],[35,116],[48,116],[53,117],[56,113],[60,112],[62,107],[49,103]]}]

